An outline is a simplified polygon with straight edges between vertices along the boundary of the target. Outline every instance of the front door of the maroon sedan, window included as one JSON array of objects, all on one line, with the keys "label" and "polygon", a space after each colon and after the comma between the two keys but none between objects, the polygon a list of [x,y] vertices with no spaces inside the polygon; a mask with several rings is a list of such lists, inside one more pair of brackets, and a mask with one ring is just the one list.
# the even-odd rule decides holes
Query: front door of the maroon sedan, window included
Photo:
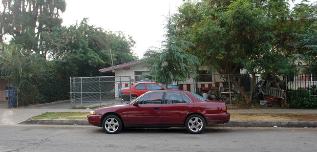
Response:
[{"label": "front door of the maroon sedan, window included", "polygon": [[137,100],[138,105],[130,105],[128,123],[135,125],[161,124],[162,92],[150,92]]}]

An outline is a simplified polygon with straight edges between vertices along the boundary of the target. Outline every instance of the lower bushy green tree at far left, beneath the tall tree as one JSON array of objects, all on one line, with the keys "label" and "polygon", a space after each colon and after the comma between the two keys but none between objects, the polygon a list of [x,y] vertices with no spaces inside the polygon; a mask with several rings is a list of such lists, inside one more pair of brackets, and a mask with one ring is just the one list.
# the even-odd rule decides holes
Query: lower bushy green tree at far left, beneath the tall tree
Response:
[{"label": "lower bushy green tree at far left, beneath the tall tree", "polygon": [[38,97],[37,87],[47,73],[46,61],[39,54],[28,54],[19,45],[2,43],[1,78],[10,80],[19,94],[19,105],[27,106]]}]

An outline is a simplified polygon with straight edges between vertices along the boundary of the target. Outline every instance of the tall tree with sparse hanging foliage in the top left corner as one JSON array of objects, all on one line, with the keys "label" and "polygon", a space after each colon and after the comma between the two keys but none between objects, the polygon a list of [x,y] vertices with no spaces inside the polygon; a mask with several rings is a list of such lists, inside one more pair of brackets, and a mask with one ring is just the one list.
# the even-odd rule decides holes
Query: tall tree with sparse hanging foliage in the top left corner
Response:
[{"label": "tall tree with sparse hanging foliage in the top left corner", "polygon": [[11,35],[14,43],[45,58],[47,52],[39,49],[45,43],[42,33],[61,26],[59,13],[65,11],[65,0],[2,0],[2,6],[0,42],[5,34]]}]

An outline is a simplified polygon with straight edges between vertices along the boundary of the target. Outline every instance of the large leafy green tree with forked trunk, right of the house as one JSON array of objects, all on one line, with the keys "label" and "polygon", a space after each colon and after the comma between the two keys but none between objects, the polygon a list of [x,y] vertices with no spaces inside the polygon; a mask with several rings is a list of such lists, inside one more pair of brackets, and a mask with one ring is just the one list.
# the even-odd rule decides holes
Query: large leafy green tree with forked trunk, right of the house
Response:
[{"label": "large leafy green tree with forked trunk, right of the house", "polygon": [[[202,65],[220,74],[245,68],[253,78],[260,73],[291,73],[295,70],[290,54],[291,33],[302,32],[306,20],[298,20],[285,0],[202,0],[186,1],[179,8],[178,26],[197,49],[191,49]],[[298,27],[299,26],[299,27]],[[247,103],[252,100],[229,75]],[[253,92],[255,79],[251,82]]]}]

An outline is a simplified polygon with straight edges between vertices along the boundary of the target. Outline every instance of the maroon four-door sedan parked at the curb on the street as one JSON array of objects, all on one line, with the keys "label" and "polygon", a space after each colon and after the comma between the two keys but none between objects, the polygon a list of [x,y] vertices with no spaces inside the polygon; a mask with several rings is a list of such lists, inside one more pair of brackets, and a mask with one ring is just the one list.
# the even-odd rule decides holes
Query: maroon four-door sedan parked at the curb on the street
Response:
[{"label": "maroon four-door sedan parked at the curb on the street", "polygon": [[190,133],[201,133],[207,124],[230,120],[223,101],[208,101],[186,90],[148,91],[128,104],[105,106],[87,115],[91,125],[106,133],[125,128],[186,127]]}]

